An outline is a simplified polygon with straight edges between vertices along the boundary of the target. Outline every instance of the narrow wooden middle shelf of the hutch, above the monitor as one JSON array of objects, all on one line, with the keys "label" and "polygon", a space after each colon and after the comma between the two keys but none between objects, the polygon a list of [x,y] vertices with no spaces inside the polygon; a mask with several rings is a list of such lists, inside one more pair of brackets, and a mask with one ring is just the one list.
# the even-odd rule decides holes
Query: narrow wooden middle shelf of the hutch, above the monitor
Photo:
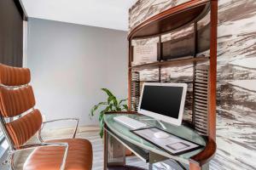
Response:
[{"label": "narrow wooden middle shelf of the hutch, above the monitor", "polygon": [[209,57],[200,56],[195,58],[185,58],[185,59],[172,59],[167,61],[157,61],[154,63],[147,63],[143,65],[134,65],[131,66],[132,70],[140,71],[143,69],[154,69],[159,67],[173,67],[173,66],[183,66],[183,65],[192,65],[194,63],[199,64],[209,60]]}]

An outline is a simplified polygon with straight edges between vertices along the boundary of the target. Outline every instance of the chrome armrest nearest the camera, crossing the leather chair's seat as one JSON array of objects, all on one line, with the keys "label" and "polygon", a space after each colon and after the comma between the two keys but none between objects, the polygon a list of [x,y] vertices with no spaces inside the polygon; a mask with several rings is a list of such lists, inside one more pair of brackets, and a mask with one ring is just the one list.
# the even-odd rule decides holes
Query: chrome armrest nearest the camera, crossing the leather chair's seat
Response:
[{"label": "chrome armrest nearest the camera, crossing the leather chair's seat", "polygon": [[27,144],[27,145],[22,145],[16,150],[10,150],[9,151],[9,158],[7,159],[7,162],[11,161],[12,167],[14,167],[14,154],[19,151],[23,150],[32,150],[32,149],[37,149],[37,148],[43,148],[43,147],[52,147],[52,146],[61,146],[65,147],[65,152],[63,154],[63,158],[61,161],[61,170],[65,169],[66,166],[66,161],[67,161],[67,152],[68,152],[68,144],[67,143],[41,143],[41,144]]}]

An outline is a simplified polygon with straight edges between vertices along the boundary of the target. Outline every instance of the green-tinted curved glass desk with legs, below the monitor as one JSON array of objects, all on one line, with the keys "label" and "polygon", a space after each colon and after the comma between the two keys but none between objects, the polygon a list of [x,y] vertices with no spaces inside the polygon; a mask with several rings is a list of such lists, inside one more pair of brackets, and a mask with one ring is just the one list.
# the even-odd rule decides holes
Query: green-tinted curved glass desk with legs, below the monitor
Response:
[{"label": "green-tinted curved glass desk with legs, below the monitor", "polygon": [[[136,134],[131,133],[128,127],[115,122],[113,117],[115,116],[129,116],[140,122],[144,122],[148,127],[159,127],[163,129],[160,122],[154,120],[151,117],[138,115],[138,114],[106,114],[105,120],[105,169],[108,165],[125,165],[125,147],[131,150],[135,155],[141,158],[145,162],[149,162],[149,169],[152,168],[152,164],[159,161],[165,161],[166,159],[172,159],[177,161],[181,166],[189,165],[189,158],[195,156],[204,148],[193,150],[178,156],[173,156],[164,150],[161,150],[154,144],[150,144],[148,141],[138,137]],[[186,126],[173,126],[166,122],[161,122],[166,129],[166,132],[172,133],[183,139],[188,139],[196,144],[206,145],[207,141],[201,135],[195,132],[195,130]]]}]

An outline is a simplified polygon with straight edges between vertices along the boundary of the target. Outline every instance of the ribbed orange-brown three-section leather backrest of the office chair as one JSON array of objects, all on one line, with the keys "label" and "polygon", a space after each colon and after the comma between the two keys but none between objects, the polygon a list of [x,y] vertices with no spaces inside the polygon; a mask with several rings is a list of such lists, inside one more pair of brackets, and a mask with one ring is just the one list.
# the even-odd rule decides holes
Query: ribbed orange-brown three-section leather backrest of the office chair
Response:
[{"label": "ribbed orange-brown three-section leather backrest of the office chair", "polygon": [[[30,80],[29,69],[0,64],[1,125],[14,150],[31,139],[42,126],[41,113],[34,109],[36,101]],[[16,120],[6,122],[15,116]]]}]

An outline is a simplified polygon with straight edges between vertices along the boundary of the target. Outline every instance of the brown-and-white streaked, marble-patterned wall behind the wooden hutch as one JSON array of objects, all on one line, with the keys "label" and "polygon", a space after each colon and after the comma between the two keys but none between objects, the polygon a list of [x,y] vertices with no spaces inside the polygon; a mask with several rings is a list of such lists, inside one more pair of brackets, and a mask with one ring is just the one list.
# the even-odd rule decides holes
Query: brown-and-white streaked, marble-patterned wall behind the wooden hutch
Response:
[{"label": "brown-and-white streaked, marble-patterned wall behind the wooden hutch", "polygon": [[[139,0],[130,9],[130,29],[154,14],[189,0]],[[191,67],[164,77],[189,78]],[[172,77],[170,76],[172,72]],[[158,71],[144,71],[157,79]],[[218,1],[218,151],[211,169],[256,169],[256,1]]]}]

